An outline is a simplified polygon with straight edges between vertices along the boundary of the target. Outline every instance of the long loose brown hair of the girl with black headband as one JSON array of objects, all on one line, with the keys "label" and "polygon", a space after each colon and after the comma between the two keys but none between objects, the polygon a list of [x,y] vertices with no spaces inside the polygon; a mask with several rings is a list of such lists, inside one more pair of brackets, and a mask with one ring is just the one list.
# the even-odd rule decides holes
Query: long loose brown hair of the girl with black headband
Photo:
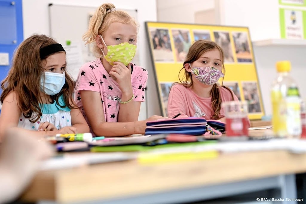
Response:
[{"label": "long loose brown hair of the girl with black headband", "polygon": [[[9,92],[16,91],[19,96],[17,105],[24,117],[32,123],[38,121],[42,116],[39,104],[42,104],[43,101],[40,96],[39,85],[40,77],[44,76],[44,69],[39,55],[40,49],[55,43],[57,42],[54,39],[46,35],[32,35],[25,39],[15,51],[12,67],[6,78],[1,82],[3,92],[0,101],[3,103]],[[51,100],[58,103],[58,98],[63,95],[65,106],[61,107],[76,109],[72,98],[74,85],[72,78],[65,72],[65,84],[58,94],[50,96]]]}]

